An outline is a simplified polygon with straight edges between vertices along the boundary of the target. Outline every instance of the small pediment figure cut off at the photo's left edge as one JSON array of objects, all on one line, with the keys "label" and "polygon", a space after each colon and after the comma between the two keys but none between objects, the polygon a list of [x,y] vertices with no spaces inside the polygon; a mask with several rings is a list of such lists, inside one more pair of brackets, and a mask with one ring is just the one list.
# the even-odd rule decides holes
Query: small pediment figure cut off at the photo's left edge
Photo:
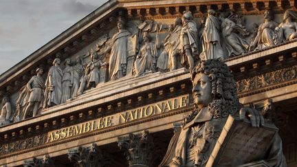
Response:
[{"label": "small pediment figure cut off at the photo's left edge", "polygon": [[10,118],[12,116],[12,108],[10,104],[10,100],[8,97],[4,97],[2,100],[2,109],[0,113],[0,126],[9,124],[10,123]]}]

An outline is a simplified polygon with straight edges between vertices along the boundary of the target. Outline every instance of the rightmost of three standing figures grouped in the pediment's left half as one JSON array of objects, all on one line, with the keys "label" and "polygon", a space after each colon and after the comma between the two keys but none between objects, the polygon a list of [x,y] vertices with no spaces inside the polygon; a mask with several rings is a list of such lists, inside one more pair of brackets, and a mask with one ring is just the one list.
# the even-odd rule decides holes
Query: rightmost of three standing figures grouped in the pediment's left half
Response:
[{"label": "rightmost of three standing figures grouped in the pediment's left half", "polygon": [[78,89],[80,86],[80,80],[82,80],[83,78],[83,72],[84,72],[84,68],[83,68],[83,60],[80,58],[80,56],[76,57],[76,65],[74,65],[73,67],[73,85],[72,85],[72,96],[71,98],[74,98],[77,96],[78,93]]}]

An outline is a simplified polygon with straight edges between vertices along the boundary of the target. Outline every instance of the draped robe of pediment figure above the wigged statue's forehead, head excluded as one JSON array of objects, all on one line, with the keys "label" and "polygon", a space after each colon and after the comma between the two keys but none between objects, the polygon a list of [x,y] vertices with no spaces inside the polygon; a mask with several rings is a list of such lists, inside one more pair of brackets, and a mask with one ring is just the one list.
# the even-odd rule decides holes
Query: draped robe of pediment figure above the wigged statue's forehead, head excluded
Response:
[{"label": "draped robe of pediment figure above the wigged statue's forehead, head excluded", "polygon": [[[180,49],[183,52],[186,52],[186,49],[191,49],[192,56],[194,59],[198,58],[198,42],[197,42],[197,25],[194,21],[189,21],[188,23],[184,23],[184,25],[181,28],[181,34],[184,34],[184,36],[181,36],[180,39]],[[181,57],[181,64],[184,64],[186,62],[187,58]]]}]

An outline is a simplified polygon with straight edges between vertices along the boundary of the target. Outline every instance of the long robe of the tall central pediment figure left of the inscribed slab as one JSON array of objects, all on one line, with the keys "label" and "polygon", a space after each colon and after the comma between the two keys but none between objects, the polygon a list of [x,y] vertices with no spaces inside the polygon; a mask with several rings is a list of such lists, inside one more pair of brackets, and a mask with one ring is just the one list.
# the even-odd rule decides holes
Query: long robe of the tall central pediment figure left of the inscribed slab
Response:
[{"label": "long robe of the tall central pediment figure left of the inscribed slab", "polygon": [[109,58],[109,78],[111,80],[118,79],[119,71],[122,71],[123,65],[126,66],[127,64],[129,36],[131,36],[131,33],[128,30],[120,30],[111,39],[111,54]]}]

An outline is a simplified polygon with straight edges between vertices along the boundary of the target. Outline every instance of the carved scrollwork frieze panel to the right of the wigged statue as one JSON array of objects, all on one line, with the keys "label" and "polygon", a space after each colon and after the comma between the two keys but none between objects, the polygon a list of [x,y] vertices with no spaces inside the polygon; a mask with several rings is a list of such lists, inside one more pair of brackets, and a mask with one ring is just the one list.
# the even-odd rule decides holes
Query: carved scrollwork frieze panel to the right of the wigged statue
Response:
[{"label": "carved scrollwork frieze panel to the right of the wigged statue", "polygon": [[285,69],[278,69],[276,71],[267,72],[236,82],[236,88],[238,93],[246,93],[248,91],[254,91],[255,89],[261,89],[272,85],[279,84],[297,78],[297,65],[293,67],[287,67]]}]

